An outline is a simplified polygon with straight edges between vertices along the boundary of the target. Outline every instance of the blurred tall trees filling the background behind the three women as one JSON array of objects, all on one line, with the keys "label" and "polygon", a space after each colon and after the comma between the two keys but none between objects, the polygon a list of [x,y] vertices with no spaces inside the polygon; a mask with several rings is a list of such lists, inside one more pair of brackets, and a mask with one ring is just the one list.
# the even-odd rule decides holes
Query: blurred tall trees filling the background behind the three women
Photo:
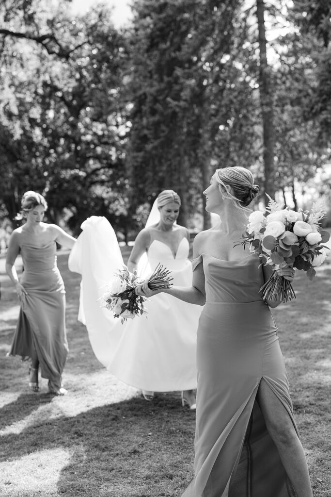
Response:
[{"label": "blurred tall trees filling the background behind the three women", "polygon": [[74,235],[99,215],[128,241],[173,188],[200,230],[202,190],[234,165],[261,202],[330,206],[329,1],[132,0],[120,29],[70,4],[0,3],[0,234],[29,189]]}]

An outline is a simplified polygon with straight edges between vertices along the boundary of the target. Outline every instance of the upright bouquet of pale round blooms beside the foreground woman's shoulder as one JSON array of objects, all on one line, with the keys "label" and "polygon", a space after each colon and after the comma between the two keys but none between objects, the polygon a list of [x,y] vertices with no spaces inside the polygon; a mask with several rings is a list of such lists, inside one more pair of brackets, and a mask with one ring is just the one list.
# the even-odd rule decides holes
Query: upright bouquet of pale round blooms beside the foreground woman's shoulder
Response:
[{"label": "upright bouquet of pale round blooms beside the foreground woman's shoulder", "polygon": [[250,251],[259,254],[263,264],[269,264],[273,272],[260,289],[264,299],[287,302],[295,298],[291,283],[276,270],[281,267],[295,267],[307,272],[312,280],[316,274],[314,267],[320,266],[327,256],[330,234],[321,228],[325,211],[316,204],[311,211],[298,212],[282,209],[269,197],[266,214],[254,211],[250,214],[244,241],[239,245],[249,245]]}]

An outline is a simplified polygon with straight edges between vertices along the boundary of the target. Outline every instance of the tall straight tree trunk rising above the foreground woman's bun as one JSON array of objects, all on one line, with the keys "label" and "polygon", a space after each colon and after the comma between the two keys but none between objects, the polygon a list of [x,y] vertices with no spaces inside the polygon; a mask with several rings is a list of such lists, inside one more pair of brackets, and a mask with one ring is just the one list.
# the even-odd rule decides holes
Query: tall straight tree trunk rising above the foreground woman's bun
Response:
[{"label": "tall straight tree trunk rising above the foreground woman's bun", "polygon": [[274,125],[270,68],[266,58],[265,4],[257,0],[257,18],[260,47],[259,90],[263,121],[263,158],[265,166],[265,192],[274,198]]}]

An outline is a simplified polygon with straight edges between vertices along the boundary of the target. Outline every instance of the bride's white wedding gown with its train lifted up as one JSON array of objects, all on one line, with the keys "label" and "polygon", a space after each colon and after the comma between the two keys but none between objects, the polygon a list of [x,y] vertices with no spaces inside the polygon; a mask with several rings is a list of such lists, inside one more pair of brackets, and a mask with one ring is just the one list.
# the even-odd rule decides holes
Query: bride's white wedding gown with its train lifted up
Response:
[{"label": "bride's white wedding gown with its train lifted up", "polygon": [[[69,269],[82,275],[79,317],[87,328],[99,361],[120,380],[153,392],[190,390],[197,387],[196,343],[202,307],[161,293],[145,303],[147,318],[126,321],[113,318],[98,300],[104,285],[123,266],[114,230],[103,217],[92,216],[71,250]],[[174,278],[174,285],[192,284],[189,242],[183,238],[176,254],[159,240],[147,253],[149,273],[160,262]],[[146,275],[143,275],[146,276]]]}]

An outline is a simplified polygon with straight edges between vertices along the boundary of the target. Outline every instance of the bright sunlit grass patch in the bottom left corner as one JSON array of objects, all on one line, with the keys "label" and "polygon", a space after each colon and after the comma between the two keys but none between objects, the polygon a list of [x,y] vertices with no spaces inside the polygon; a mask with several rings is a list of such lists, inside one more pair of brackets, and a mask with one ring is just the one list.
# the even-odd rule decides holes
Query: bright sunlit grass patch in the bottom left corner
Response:
[{"label": "bright sunlit grass patch in the bottom left corner", "polygon": [[62,448],[38,450],[18,459],[0,462],[0,495],[57,495],[54,489],[70,451]]}]

